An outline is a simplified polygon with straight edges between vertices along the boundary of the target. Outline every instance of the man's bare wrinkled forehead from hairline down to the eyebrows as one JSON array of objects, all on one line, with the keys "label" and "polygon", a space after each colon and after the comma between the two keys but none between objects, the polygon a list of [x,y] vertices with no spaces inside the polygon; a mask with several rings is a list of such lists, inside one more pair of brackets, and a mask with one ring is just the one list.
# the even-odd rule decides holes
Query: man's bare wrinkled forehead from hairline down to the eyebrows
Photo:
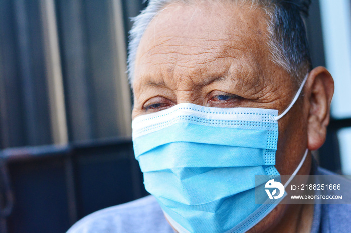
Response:
[{"label": "man's bare wrinkled forehead from hairline down to the eyebrows", "polygon": [[[241,76],[259,73],[264,78],[264,71],[269,72],[272,65],[267,17],[260,8],[220,1],[165,6],[142,36],[133,86],[145,81],[145,74],[155,78],[171,71],[174,76],[175,70],[184,76],[182,68],[190,74],[204,73],[221,65],[229,69],[225,67],[229,63],[237,65],[232,68]],[[220,62],[222,58],[238,62]]]}]

